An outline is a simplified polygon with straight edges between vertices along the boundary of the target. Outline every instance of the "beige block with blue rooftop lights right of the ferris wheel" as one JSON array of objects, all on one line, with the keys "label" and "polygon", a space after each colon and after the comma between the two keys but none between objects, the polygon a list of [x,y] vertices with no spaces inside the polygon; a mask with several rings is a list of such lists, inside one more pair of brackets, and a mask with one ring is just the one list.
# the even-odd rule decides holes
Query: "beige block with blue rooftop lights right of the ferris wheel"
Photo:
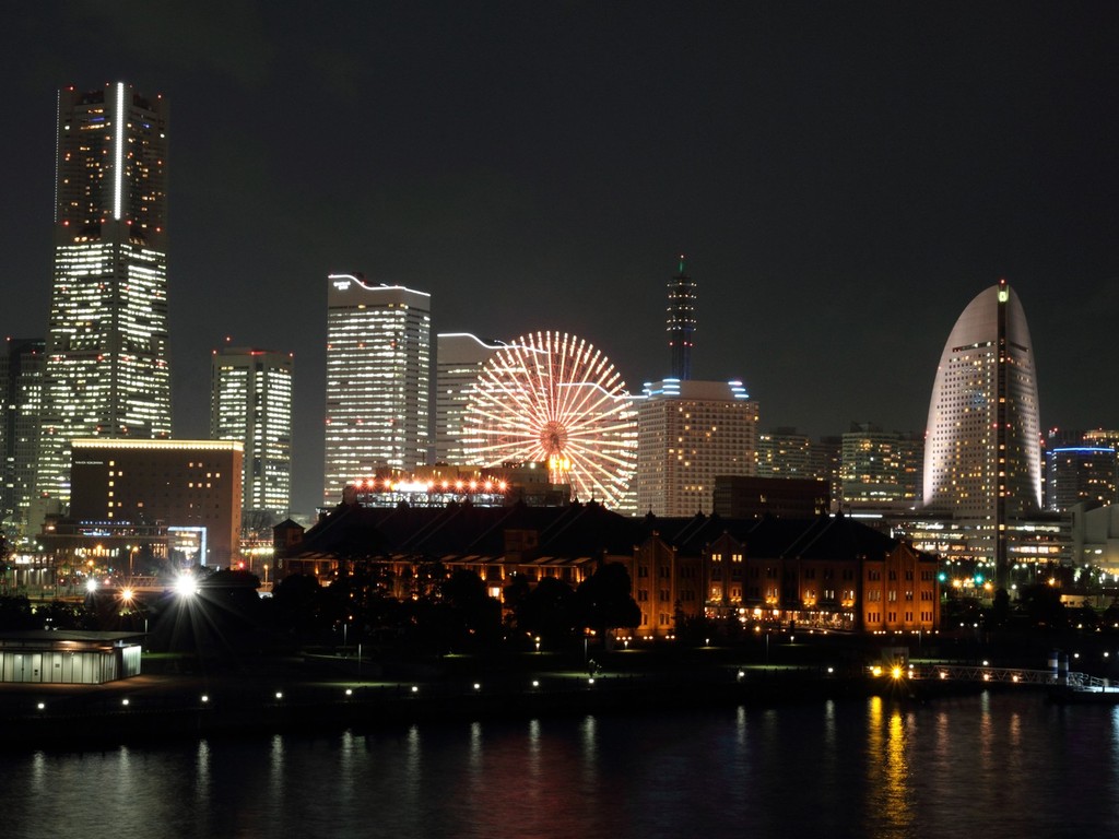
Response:
[{"label": "beige block with blue rooftop lights right of the ferris wheel", "polygon": [[636,402],[639,515],[711,512],[716,475],[755,473],[758,403],[741,381],[666,379]]}]

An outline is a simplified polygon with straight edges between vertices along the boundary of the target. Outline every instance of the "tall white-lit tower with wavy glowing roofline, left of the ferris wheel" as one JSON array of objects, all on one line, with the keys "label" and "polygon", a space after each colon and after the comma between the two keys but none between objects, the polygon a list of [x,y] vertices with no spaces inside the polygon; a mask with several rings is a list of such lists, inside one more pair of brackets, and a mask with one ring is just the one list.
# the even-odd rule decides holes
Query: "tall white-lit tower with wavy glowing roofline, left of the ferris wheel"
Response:
[{"label": "tall white-lit tower with wavy glowing roofline, left of the ferris wheel", "polygon": [[431,295],[331,274],[323,503],[378,469],[427,460]]}]

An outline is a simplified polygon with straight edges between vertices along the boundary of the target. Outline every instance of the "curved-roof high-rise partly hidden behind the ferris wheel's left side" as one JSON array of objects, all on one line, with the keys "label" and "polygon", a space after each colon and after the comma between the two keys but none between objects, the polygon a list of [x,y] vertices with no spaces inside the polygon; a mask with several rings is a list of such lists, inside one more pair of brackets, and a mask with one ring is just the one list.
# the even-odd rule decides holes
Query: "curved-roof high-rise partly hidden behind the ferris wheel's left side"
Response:
[{"label": "curved-roof high-rise partly hidden behind the ferris wheel's left side", "polygon": [[493,353],[505,347],[482,341],[468,332],[435,337],[435,462],[463,464],[462,417],[478,374]]}]

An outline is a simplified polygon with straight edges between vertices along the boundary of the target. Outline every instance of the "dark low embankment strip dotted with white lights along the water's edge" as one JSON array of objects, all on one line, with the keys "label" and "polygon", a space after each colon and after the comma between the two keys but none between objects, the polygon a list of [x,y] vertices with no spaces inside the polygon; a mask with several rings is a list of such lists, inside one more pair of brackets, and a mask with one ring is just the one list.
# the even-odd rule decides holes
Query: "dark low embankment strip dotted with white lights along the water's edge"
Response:
[{"label": "dark low embankment strip dotted with white lights along the water's edge", "polygon": [[865,696],[865,679],[812,672],[527,673],[488,682],[140,677],[107,686],[3,686],[0,747],[88,750],[171,739],[330,733],[425,720],[640,714]]}]

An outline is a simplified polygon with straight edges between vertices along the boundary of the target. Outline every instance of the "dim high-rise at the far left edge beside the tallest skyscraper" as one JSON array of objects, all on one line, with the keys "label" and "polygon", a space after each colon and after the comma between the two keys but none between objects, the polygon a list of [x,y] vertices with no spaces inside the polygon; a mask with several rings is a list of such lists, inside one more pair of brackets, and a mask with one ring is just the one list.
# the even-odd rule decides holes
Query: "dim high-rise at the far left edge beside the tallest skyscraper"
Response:
[{"label": "dim high-rise at the far left edge beside the tallest skyscraper", "polygon": [[41,338],[9,338],[0,355],[0,513],[17,532],[26,532],[35,493],[44,349]]}]

